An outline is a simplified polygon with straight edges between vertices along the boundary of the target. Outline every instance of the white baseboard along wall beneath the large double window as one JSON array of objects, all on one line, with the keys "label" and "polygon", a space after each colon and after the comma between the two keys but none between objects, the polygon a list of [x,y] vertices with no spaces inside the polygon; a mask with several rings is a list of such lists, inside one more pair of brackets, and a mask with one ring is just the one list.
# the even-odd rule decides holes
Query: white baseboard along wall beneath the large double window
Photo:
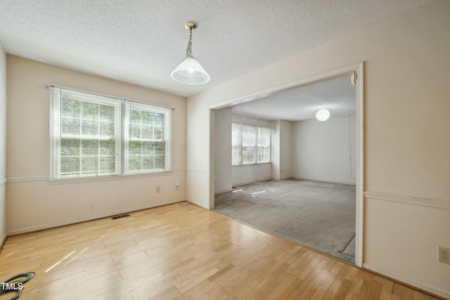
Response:
[{"label": "white baseboard along wall beneath the large double window", "polygon": [[174,203],[183,202],[183,201],[186,201],[186,199],[183,198],[183,199],[177,199],[177,200],[163,201],[163,202],[153,203],[153,204],[149,204],[149,205],[144,205],[143,207],[133,207],[133,208],[129,208],[129,209],[120,209],[118,211],[109,211],[104,214],[98,214],[95,216],[86,216],[86,217],[80,218],[80,219],[72,219],[72,220],[68,220],[68,221],[53,222],[53,223],[47,223],[47,224],[38,225],[38,226],[20,228],[20,229],[10,230],[6,233],[6,235],[9,236],[9,235],[20,235],[23,233],[31,233],[33,231],[46,230],[46,229],[50,229],[50,228],[66,226],[66,225],[75,224],[75,223],[81,223],[81,222],[92,221],[92,220],[96,220],[96,219],[108,218],[110,216],[116,216],[117,214],[127,214],[127,213],[133,212],[133,211],[139,211],[142,209],[150,209],[152,207],[160,207],[162,205],[174,204]]}]

